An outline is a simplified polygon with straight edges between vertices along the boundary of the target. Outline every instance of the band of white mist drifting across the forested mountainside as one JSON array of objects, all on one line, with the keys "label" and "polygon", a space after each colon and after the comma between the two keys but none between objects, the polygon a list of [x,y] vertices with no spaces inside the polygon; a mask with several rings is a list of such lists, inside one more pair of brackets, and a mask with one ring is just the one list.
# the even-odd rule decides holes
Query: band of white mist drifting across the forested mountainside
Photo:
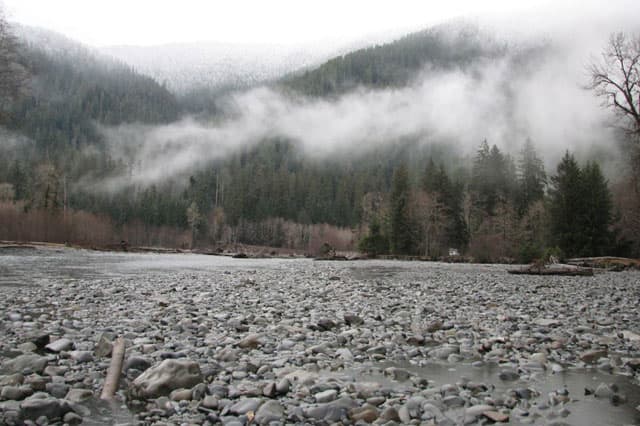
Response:
[{"label": "band of white mist drifting across the forested mountainside", "polygon": [[292,97],[261,87],[228,100],[230,118],[104,128],[131,174],[101,186],[147,185],[188,175],[270,137],[312,156],[358,155],[407,138],[472,152],[487,139],[508,152],[531,138],[550,161],[565,149],[612,140],[608,112],[583,88],[584,66],[561,48],[514,48],[465,70],[425,69],[397,89],[360,88],[337,99]]}]

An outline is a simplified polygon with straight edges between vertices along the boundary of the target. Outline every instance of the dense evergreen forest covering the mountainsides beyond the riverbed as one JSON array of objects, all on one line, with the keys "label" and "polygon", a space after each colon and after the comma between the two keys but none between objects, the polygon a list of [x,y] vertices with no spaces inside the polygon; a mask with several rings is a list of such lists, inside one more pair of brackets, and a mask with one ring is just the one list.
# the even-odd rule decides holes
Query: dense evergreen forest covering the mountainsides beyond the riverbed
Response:
[{"label": "dense evergreen forest covering the mountainsides beyond the riverbed", "polygon": [[[621,189],[629,176],[610,185],[593,159],[579,163],[567,152],[557,168],[549,167],[536,139],[514,135],[506,150],[482,133],[460,140],[420,126],[358,135],[359,145],[341,146],[338,139],[334,143],[343,149],[327,155],[310,155],[309,146],[291,135],[249,131],[251,143],[234,145],[227,138],[223,152],[222,145],[209,143],[207,126],[224,129],[234,119],[227,95],[177,99],[124,64],[69,40],[51,36],[43,44],[42,34],[28,33],[23,28],[16,38],[6,22],[0,28],[0,77],[7,83],[0,87],[0,238],[183,247],[246,243],[308,252],[329,242],[371,255],[427,258],[455,248],[478,261],[529,261],[545,251],[639,254],[638,194]],[[437,79],[438,70],[458,70],[471,75],[465,81],[476,81],[474,66],[484,70],[504,60],[508,49],[473,27],[438,27],[285,76],[258,94],[316,99],[362,88],[411,93],[416,76],[425,72]],[[508,75],[526,74],[544,55],[544,43],[516,52],[508,57]],[[508,103],[509,86],[503,89],[499,95]],[[403,108],[407,99],[393,108]],[[292,105],[312,105],[314,113],[333,107],[313,102],[285,103],[280,119],[304,121]],[[345,105],[351,112],[353,104]],[[464,127],[469,117],[454,112],[453,127]],[[251,111],[243,113],[251,117]],[[271,112],[262,114],[269,121]],[[313,122],[316,116],[307,115]],[[193,132],[175,130],[185,117],[202,126],[195,158],[175,149],[198,143]],[[251,130],[254,123],[236,124]],[[268,124],[262,125],[286,128]],[[327,138],[335,130],[331,124],[310,132]],[[136,144],[121,136],[139,128],[164,139]],[[154,162],[156,157],[162,161]],[[181,161],[185,166],[172,173],[172,164]],[[145,162],[153,165],[154,180],[138,179]]]}]

